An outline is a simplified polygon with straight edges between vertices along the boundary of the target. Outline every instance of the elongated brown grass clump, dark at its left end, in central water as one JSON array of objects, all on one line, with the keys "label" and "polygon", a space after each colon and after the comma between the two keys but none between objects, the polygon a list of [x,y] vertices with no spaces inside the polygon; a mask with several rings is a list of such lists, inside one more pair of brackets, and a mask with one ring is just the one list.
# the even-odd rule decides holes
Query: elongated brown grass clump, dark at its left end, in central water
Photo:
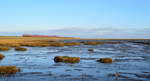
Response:
[{"label": "elongated brown grass clump, dark at its left end, in central water", "polygon": [[54,58],[55,62],[65,62],[65,63],[78,63],[80,61],[79,57],[69,57],[69,56],[56,56]]}]

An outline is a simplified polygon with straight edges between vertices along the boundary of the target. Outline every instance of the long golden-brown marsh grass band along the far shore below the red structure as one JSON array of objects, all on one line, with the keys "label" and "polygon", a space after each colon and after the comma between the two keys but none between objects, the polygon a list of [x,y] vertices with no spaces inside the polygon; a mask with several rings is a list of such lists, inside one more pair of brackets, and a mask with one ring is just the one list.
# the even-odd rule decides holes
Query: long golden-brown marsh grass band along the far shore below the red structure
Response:
[{"label": "long golden-brown marsh grass band along the far shore below the red structure", "polygon": [[1,47],[64,47],[76,46],[83,43],[84,45],[99,45],[99,44],[116,44],[118,42],[60,42],[60,40],[76,40],[79,38],[50,38],[50,37],[13,37],[13,36],[0,36]]}]

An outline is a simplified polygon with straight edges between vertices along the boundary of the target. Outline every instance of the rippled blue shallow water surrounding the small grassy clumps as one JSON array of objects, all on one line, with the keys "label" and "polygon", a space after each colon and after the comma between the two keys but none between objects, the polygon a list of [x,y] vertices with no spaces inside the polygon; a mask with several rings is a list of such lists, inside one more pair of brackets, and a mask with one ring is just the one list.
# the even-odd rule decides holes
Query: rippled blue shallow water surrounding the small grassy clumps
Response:
[{"label": "rippled blue shallow water surrounding the small grassy clumps", "polygon": [[[97,46],[27,47],[25,52],[11,49],[0,65],[15,65],[21,72],[1,76],[0,81],[150,81],[150,45],[123,42]],[[88,52],[93,48],[94,52]],[[76,64],[55,63],[55,56],[76,56]],[[96,62],[111,57],[112,64]],[[116,74],[119,74],[117,76]]]}]

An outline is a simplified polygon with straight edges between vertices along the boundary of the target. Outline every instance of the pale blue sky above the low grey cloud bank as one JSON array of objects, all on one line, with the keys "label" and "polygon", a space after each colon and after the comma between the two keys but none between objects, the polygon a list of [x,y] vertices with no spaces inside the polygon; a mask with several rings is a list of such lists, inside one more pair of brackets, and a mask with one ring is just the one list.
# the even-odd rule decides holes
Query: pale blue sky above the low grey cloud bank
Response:
[{"label": "pale blue sky above the low grey cloud bank", "polygon": [[[125,33],[129,33],[128,30],[135,32],[124,37],[133,35],[138,38],[135,30],[145,37],[150,28],[149,4],[150,0],[1,0],[0,35],[4,32],[62,29],[91,29],[91,33],[95,29],[105,29],[107,34],[111,34],[110,29],[119,29]],[[85,34],[82,32],[79,36]],[[124,35],[124,32],[119,34]],[[105,36],[101,35],[87,36]]]}]

